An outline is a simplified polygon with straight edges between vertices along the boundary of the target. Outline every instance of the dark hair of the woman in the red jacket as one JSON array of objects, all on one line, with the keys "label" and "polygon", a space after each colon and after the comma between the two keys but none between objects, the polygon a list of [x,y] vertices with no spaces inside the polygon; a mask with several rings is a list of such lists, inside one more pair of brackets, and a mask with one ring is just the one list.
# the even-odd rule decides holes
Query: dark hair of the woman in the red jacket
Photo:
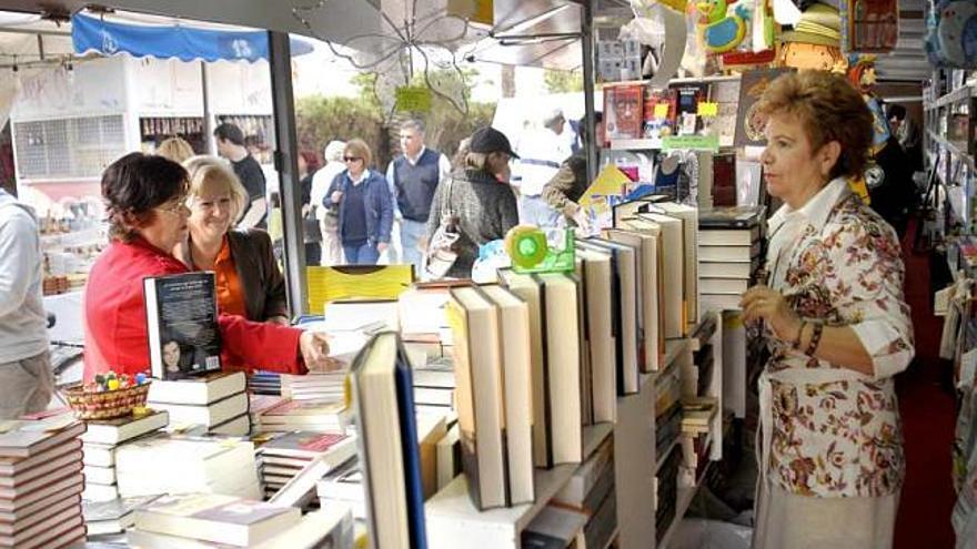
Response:
[{"label": "dark hair of the woman in the red jacket", "polygon": [[129,153],[102,172],[102,197],[109,216],[109,237],[129,242],[135,230],[155,218],[158,207],[190,187],[187,170],[163,156]]}]

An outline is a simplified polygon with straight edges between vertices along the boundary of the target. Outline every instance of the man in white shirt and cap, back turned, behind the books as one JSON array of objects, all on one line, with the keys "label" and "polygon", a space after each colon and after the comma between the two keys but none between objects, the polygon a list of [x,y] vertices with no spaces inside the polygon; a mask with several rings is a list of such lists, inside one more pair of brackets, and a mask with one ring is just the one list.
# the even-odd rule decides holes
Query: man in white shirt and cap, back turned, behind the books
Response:
[{"label": "man in white shirt and cap, back turned, behind the books", "polygon": [[520,162],[513,173],[513,186],[520,192],[520,222],[553,226],[560,213],[543,199],[543,186],[556,175],[560,164],[571,155],[563,138],[566,119],[563,110],[554,109],[542,119],[543,128],[520,141]]}]

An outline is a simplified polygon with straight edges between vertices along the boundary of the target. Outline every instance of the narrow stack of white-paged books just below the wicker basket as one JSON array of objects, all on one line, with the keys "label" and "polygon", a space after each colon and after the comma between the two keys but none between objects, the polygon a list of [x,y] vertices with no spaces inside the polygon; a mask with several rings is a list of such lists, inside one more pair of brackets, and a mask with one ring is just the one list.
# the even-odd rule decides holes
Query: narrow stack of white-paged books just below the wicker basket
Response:
[{"label": "narrow stack of white-paged books just below the wicker basket", "polygon": [[87,501],[112,501],[119,497],[115,482],[115,451],[121,446],[164,428],[170,415],[150,410],[140,416],[88,421],[81,436],[84,451],[84,492]]}]

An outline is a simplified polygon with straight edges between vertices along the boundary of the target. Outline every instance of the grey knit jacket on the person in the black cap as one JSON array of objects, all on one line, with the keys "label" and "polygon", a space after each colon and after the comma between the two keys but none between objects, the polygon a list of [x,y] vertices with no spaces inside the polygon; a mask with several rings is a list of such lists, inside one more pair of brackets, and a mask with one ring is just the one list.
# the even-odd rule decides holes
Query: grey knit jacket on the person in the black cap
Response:
[{"label": "grey knit jacket on the person in the black cap", "polygon": [[451,176],[451,190],[437,185],[431,215],[427,218],[427,240],[437,231],[442,207],[447,207],[457,218],[461,236],[455,243],[457,260],[447,276],[469,278],[472,265],[479,258],[479,246],[505,237],[510,228],[518,224],[515,194],[507,183],[501,183],[484,170],[465,170]]}]

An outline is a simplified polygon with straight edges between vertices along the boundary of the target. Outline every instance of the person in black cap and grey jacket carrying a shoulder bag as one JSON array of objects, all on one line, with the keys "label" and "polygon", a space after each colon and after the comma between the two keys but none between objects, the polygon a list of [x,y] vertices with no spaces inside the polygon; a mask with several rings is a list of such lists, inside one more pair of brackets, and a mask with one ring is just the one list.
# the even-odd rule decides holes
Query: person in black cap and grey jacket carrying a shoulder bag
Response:
[{"label": "person in black cap and grey jacket carrying a shoulder bag", "polygon": [[437,186],[427,220],[427,238],[441,225],[441,213],[451,213],[459,233],[453,246],[457,258],[447,276],[469,278],[479,246],[505,237],[518,224],[515,195],[508,186],[508,162],[518,156],[498,130],[482,128],[472,134],[464,172]]}]

